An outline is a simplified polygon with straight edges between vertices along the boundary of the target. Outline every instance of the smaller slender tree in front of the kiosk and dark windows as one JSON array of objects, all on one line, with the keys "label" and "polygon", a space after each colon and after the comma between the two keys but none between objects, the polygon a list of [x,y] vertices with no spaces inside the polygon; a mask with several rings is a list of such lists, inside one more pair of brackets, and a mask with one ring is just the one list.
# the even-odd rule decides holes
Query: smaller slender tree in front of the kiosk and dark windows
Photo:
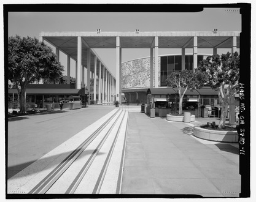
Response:
[{"label": "smaller slender tree in front of the kiosk and dark windows", "polygon": [[[200,89],[207,81],[205,72],[193,72],[193,70],[174,71],[168,75],[168,86],[177,88],[179,94],[179,115],[182,115],[182,103],[185,92]],[[183,91],[183,92],[182,92]]]}]

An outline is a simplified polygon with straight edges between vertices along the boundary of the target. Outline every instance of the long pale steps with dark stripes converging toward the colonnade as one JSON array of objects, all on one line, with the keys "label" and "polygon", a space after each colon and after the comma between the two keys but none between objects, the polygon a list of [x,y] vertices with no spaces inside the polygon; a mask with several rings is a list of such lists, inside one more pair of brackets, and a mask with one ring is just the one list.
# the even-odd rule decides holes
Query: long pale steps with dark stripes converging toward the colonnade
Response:
[{"label": "long pale steps with dark stripes converging toward the colonnade", "polygon": [[7,181],[7,193],[120,193],[128,111],[117,108]]}]

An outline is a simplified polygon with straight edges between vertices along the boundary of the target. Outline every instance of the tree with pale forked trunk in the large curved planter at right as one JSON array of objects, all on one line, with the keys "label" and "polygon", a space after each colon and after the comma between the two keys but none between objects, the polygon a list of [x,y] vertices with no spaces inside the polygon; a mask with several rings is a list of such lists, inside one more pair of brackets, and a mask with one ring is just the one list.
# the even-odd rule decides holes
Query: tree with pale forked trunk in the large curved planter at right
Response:
[{"label": "tree with pale forked trunk in the large curved planter at right", "polygon": [[230,98],[239,91],[239,67],[240,57],[238,52],[208,56],[200,62],[198,71],[206,72],[208,84],[212,89],[218,90],[222,103],[222,114],[218,128],[225,128]]}]

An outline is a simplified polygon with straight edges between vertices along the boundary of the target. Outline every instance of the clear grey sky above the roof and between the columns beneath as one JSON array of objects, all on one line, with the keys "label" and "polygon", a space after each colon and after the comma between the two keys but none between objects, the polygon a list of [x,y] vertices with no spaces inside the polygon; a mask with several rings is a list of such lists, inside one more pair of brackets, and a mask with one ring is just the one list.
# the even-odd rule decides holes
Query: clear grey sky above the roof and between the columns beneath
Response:
[{"label": "clear grey sky above the roof and between the columns beneath", "polygon": [[[231,8],[228,8],[231,9]],[[238,9],[204,9],[203,12],[9,12],[8,36],[36,37],[39,32],[61,31],[241,31],[241,15]],[[95,49],[99,58],[115,75],[115,48]],[[209,50],[212,53],[212,50]],[[181,50],[159,48],[158,54],[181,53]],[[190,50],[188,50],[189,53]],[[203,50],[198,53],[208,53]],[[149,57],[150,49],[122,49],[122,62]],[[66,55],[60,54],[66,70]],[[71,61],[71,76],[75,77],[75,62]],[[66,72],[64,72],[66,75]]]}]

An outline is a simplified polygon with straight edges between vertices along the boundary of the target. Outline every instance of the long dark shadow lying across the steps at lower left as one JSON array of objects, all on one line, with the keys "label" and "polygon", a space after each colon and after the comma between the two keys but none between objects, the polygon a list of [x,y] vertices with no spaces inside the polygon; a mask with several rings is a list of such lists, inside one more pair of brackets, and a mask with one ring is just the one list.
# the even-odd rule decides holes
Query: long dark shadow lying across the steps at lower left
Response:
[{"label": "long dark shadow lying across the steps at lower left", "polygon": [[[74,150],[74,152],[76,151],[79,151],[80,149],[76,149],[76,150]],[[87,151],[83,151],[82,152],[82,154],[80,155],[80,157],[83,157],[83,156],[85,156],[85,155],[90,155],[90,154],[92,154],[93,152],[95,152],[95,150],[87,150]],[[68,159],[68,156],[71,154],[71,152],[63,152],[61,155],[66,155],[66,159],[64,159],[63,161],[65,161],[65,160],[67,160]],[[101,154],[103,154],[103,152],[99,152],[97,155],[101,155]],[[45,162],[47,163],[48,162],[48,164],[50,164],[50,163],[52,163],[52,162],[55,162],[56,161],[56,159],[59,157],[60,155],[52,155],[52,156],[50,156],[50,157],[42,157],[41,159],[38,159],[38,160],[34,160],[34,161],[31,161],[31,162],[24,162],[24,163],[21,163],[21,164],[19,164],[19,165],[15,165],[15,166],[9,166],[8,168],[7,168],[7,179],[9,179],[9,178],[12,178],[13,176],[15,176],[15,174],[17,174],[17,173],[19,173],[21,170],[23,170],[23,169],[25,169],[27,166],[29,166],[29,165],[31,165],[32,163],[34,163],[34,162],[36,162],[37,161],[37,163],[39,163],[39,165],[41,165],[41,164],[45,164]],[[85,162],[86,163],[86,162]],[[45,166],[47,166],[47,165],[45,165]],[[44,166],[44,167],[45,167]],[[53,165],[54,167],[56,167],[56,164],[54,164]],[[49,169],[48,168],[48,166],[47,166],[47,169]],[[29,172],[27,173],[28,175],[31,175],[31,174],[34,174],[34,173],[38,173],[38,172],[40,172],[40,171],[34,171],[34,169],[31,169],[31,170],[29,170]],[[79,171],[77,171],[77,172],[79,172]],[[24,175],[25,176],[25,175]],[[24,176],[22,176],[22,177],[24,177]],[[18,176],[17,176],[17,178],[18,178]]]}]

